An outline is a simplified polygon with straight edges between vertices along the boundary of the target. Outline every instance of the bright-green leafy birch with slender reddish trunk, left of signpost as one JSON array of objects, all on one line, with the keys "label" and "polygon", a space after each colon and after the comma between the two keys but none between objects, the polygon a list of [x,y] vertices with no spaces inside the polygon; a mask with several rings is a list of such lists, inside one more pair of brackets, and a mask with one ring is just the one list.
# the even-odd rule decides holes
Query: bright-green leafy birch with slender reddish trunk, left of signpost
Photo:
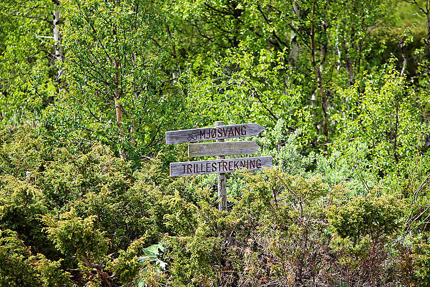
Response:
[{"label": "bright-green leafy birch with slender reddish trunk, left of signpost", "polygon": [[[167,54],[166,16],[152,1],[65,1],[62,29],[68,92],[42,124],[56,143],[101,141],[122,158],[157,149],[165,127],[181,122]],[[176,83],[180,84],[180,83]]]}]

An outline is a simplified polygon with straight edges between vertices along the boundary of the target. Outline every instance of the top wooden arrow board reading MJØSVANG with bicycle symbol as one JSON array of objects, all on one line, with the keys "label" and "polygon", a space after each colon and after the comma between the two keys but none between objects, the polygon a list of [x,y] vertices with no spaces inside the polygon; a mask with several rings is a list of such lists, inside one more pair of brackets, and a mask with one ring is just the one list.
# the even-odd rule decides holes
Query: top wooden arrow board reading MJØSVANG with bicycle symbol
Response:
[{"label": "top wooden arrow board reading MJ\u00d8SVANG with bicycle symbol", "polygon": [[166,144],[256,136],[266,128],[257,124],[209,127],[166,132]]}]

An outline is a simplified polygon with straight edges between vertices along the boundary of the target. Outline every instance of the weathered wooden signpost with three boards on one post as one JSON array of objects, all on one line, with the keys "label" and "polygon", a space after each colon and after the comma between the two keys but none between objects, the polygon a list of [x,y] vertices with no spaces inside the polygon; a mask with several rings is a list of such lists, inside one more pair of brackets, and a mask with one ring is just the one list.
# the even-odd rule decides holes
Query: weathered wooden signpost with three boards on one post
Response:
[{"label": "weathered wooden signpost with three boards on one post", "polygon": [[257,124],[224,126],[166,132],[166,144],[216,140],[215,143],[188,144],[188,156],[216,155],[215,160],[170,162],[170,176],[218,174],[219,210],[227,210],[226,173],[240,169],[259,171],[272,166],[272,156],[228,158],[225,155],[253,154],[259,146],[254,141],[224,142],[224,139],[256,136],[265,130]]}]

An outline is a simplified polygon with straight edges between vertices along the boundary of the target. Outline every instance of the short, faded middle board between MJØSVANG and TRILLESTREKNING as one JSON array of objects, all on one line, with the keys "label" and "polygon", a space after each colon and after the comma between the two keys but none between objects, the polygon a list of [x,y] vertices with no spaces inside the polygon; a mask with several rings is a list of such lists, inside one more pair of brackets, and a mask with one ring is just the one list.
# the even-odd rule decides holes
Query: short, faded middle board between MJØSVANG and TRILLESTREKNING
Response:
[{"label": "short, faded middle board between MJ\u00d8SVANG and TRILLESTREKNING", "polygon": [[253,154],[257,149],[254,141],[188,144],[188,156]]}]

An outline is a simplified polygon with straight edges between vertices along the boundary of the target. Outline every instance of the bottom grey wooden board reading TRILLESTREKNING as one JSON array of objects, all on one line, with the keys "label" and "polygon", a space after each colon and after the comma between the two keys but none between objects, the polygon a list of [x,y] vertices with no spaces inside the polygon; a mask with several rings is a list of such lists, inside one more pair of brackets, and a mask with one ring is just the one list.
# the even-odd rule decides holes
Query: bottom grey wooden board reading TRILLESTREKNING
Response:
[{"label": "bottom grey wooden board reading TRILLESTREKNING", "polygon": [[231,173],[241,168],[259,171],[272,166],[272,156],[170,162],[170,176]]}]

